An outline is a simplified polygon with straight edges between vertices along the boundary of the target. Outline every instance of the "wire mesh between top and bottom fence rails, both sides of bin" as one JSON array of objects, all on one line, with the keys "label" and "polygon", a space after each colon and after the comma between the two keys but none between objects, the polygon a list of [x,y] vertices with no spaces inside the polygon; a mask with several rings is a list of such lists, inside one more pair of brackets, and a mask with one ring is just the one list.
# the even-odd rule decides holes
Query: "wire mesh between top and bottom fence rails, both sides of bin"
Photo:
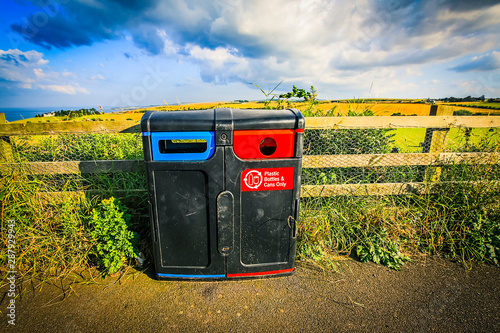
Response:
[{"label": "wire mesh between top and bottom fence rails, both sides of bin", "polygon": [[[468,180],[471,173],[464,168],[472,167],[476,178],[495,179],[491,175],[498,174],[498,158],[486,163],[473,156],[466,167],[461,155],[446,154],[495,153],[499,138],[499,128],[306,129],[302,184]],[[78,163],[67,163],[63,169],[57,163],[37,164],[143,160],[140,133],[12,136],[1,142],[2,161],[28,164],[32,177],[43,179],[47,191],[146,188],[143,172],[92,172]],[[457,164],[463,164],[462,171]],[[491,175],[485,176],[488,170]]]}]

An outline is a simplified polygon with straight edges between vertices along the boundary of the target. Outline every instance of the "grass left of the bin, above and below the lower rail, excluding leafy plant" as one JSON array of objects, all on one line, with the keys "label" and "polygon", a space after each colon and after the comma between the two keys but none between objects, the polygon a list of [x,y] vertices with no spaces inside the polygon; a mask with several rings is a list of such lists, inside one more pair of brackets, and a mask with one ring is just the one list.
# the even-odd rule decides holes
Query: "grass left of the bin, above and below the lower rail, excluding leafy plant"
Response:
[{"label": "grass left of the bin, above and below the lower rail, excluding leafy plant", "polygon": [[[0,218],[2,234],[6,221],[16,221],[16,270],[24,280],[66,277],[97,266],[95,249],[102,240],[92,236],[95,227],[89,219],[102,199],[117,194],[129,207],[132,219],[128,227],[140,235],[138,247],[145,249],[147,193],[137,192],[146,188],[144,173],[33,175],[24,168],[26,161],[142,159],[139,135],[18,137],[12,140],[12,147],[20,169],[2,174]],[[72,195],[72,191],[79,194]],[[2,237],[0,269],[7,267],[6,242]]]}]

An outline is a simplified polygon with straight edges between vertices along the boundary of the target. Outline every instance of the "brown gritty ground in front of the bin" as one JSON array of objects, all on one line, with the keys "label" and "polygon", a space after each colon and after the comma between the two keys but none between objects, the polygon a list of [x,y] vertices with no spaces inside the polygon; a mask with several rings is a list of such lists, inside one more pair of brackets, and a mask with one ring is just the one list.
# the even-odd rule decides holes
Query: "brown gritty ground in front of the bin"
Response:
[{"label": "brown gritty ground in front of the bin", "polygon": [[[500,268],[437,258],[401,272],[354,260],[339,272],[298,266],[288,277],[156,281],[135,272],[103,284],[60,281],[10,300],[9,332],[500,332]],[[62,287],[65,285],[65,287]],[[71,291],[70,295],[65,295]]]}]

